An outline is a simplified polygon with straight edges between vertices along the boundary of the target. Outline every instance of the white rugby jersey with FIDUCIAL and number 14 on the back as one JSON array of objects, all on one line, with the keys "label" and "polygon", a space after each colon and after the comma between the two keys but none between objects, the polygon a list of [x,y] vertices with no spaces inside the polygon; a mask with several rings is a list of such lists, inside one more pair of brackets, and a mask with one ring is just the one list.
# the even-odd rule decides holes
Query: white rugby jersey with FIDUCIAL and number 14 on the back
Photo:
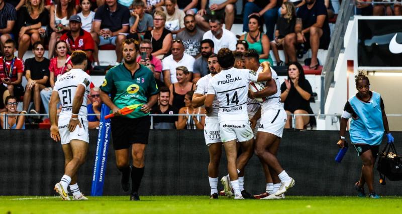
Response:
[{"label": "white rugby jersey with FIDUCIAL and number 14 on the back", "polygon": [[247,93],[251,81],[258,73],[248,69],[230,68],[215,75],[209,83],[208,93],[219,101],[219,121],[247,121]]}]

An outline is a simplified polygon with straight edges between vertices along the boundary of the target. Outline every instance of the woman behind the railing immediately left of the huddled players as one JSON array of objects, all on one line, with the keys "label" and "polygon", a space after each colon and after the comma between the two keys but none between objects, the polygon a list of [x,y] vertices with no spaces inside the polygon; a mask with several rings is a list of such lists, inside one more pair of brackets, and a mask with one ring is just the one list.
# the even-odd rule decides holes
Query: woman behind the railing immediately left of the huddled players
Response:
[{"label": "woman behind the railing immediately left of the huddled players", "polygon": [[191,99],[194,91],[188,91],[184,96],[185,107],[180,108],[179,114],[197,114],[194,116],[179,116],[177,121],[177,129],[204,129],[205,116],[199,114],[205,114],[205,108],[198,107],[193,108],[191,105]]}]

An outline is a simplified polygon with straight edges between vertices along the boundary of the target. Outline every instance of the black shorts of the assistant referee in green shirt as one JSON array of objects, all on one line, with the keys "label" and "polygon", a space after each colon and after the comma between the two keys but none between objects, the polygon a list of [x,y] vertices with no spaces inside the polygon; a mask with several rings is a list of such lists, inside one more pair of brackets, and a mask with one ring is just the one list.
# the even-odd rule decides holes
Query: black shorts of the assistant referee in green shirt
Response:
[{"label": "black shorts of the assistant referee in green shirt", "polygon": [[127,149],[133,143],[148,144],[151,117],[140,118],[114,117],[111,121],[113,148]]}]

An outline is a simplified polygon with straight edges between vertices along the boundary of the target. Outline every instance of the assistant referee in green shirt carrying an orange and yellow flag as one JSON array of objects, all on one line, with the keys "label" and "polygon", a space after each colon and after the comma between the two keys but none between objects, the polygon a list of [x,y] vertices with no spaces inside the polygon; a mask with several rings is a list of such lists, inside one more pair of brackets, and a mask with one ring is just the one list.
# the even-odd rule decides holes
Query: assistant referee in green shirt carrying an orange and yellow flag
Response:
[{"label": "assistant referee in green shirt carrying an orange and yellow flag", "polygon": [[[130,200],[140,200],[138,187],[144,174],[144,151],[151,126],[149,112],[158,100],[158,87],[152,71],[136,63],[138,50],[137,41],[125,40],[123,42],[124,63],[111,68],[100,87],[100,98],[115,115],[111,122],[113,147],[117,168],[122,172],[124,191],[130,189],[131,171],[133,187]],[[143,106],[130,114],[120,114],[121,108],[134,104],[143,104]],[[129,165],[130,146],[133,156],[132,169]]]}]

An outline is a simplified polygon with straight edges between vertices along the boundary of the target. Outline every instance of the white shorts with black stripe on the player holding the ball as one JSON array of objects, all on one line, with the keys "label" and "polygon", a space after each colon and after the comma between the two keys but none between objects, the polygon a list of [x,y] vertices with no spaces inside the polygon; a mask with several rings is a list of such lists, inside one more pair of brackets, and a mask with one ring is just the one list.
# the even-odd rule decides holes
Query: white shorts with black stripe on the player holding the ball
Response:
[{"label": "white shorts with black stripe on the player holding the ball", "polygon": [[272,109],[261,113],[261,122],[258,131],[268,132],[278,137],[282,137],[286,118],[287,115],[283,109]]}]

